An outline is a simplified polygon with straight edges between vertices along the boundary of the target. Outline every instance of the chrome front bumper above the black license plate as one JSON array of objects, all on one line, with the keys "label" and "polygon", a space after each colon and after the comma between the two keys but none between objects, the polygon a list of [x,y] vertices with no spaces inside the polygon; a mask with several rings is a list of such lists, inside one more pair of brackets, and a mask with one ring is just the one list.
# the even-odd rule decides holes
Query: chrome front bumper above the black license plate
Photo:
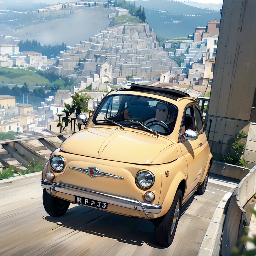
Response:
[{"label": "chrome front bumper above the black license plate", "polygon": [[52,195],[52,191],[57,191],[57,192],[65,193],[72,196],[80,196],[80,197],[90,198],[93,200],[103,201],[111,205],[121,206],[121,207],[129,208],[137,211],[143,211],[148,218],[150,218],[148,216],[148,213],[157,214],[157,213],[160,213],[162,210],[161,205],[141,202],[135,199],[110,195],[106,193],[88,190],[85,188],[77,188],[77,187],[73,187],[65,184],[60,184],[57,182],[51,183],[51,182],[42,180],[41,186],[45,189],[50,190],[51,195]]}]

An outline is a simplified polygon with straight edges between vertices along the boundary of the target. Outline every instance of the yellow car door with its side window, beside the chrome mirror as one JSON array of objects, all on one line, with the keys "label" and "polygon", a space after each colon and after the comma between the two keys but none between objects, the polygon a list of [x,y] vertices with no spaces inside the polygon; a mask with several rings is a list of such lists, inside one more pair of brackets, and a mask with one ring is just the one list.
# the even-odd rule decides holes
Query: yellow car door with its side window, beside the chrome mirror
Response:
[{"label": "yellow car door with its side window, beside the chrome mirror", "polygon": [[[188,129],[197,132],[194,104],[188,105],[184,111],[180,134],[184,134]],[[193,191],[200,181],[202,166],[204,163],[204,151],[201,146],[200,138],[193,141],[184,138],[181,139],[178,144],[188,165],[187,190],[184,196],[185,198],[191,191]]]}]

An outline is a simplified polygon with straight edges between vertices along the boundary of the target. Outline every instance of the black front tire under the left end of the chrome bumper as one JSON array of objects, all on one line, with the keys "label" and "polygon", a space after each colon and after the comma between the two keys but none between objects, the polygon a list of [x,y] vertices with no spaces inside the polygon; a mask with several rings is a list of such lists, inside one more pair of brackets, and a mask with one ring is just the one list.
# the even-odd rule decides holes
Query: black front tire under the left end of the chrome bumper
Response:
[{"label": "black front tire under the left end of the chrome bumper", "polygon": [[52,217],[60,217],[66,213],[70,202],[51,196],[46,189],[43,190],[43,205],[45,211]]}]

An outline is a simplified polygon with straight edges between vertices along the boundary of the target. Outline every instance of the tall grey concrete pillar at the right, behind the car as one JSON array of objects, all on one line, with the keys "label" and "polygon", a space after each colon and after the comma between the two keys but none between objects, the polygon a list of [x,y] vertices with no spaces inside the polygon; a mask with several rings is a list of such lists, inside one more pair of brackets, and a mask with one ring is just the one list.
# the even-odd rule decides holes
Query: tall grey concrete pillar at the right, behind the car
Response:
[{"label": "tall grey concrete pillar at the right, behind the car", "polygon": [[256,1],[224,0],[207,131],[214,158],[227,155],[230,139],[248,133],[256,86]]}]

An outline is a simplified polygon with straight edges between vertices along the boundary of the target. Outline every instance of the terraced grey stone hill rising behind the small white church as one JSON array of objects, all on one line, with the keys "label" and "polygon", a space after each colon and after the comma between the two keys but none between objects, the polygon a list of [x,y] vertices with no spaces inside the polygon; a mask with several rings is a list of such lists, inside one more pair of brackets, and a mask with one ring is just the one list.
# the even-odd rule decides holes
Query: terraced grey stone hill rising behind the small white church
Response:
[{"label": "terraced grey stone hill rising behind the small white church", "polygon": [[[82,75],[90,76],[90,73],[97,74],[94,71],[96,68],[98,71],[97,65],[107,62],[112,66],[113,78],[149,76],[150,79],[158,79],[159,72],[170,71],[173,76],[174,73],[182,73],[168,52],[160,47],[149,24],[110,25],[90,37],[89,41],[80,41],[80,44],[69,47],[67,52],[62,52],[56,63],[58,70],[55,71],[68,74],[74,68],[81,68]],[[85,62],[80,62],[81,59]]]}]

